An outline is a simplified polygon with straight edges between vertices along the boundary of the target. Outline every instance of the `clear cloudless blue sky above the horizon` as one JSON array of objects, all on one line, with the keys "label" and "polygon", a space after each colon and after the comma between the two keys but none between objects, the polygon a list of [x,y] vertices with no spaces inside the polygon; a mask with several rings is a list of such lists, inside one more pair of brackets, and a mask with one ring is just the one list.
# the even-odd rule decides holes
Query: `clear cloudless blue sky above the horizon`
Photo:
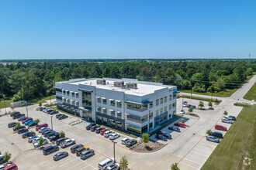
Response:
[{"label": "clear cloudless blue sky above the horizon", "polygon": [[256,58],[255,0],[3,0],[0,59]]}]

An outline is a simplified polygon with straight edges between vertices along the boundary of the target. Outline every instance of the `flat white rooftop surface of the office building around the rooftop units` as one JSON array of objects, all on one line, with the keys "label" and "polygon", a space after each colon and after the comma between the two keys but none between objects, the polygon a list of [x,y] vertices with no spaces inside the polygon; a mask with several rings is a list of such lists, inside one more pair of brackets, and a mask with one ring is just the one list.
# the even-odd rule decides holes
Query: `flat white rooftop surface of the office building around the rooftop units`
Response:
[{"label": "flat white rooftop surface of the office building around the rooftop units", "polygon": [[[163,85],[162,83],[138,81],[136,79],[104,78],[104,80],[106,80],[106,84],[99,84],[97,83],[97,80],[103,80],[103,79],[79,79],[79,80],[69,80],[63,83],[71,83],[71,84],[77,84],[77,85],[85,84],[88,86],[94,86],[99,89],[123,91],[124,93],[137,95],[137,96],[144,96],[150,93],[154,93],[155,90],[161,90],[164,88],[175,88],[175,86],[166,86],[166,85]],[[133,89],[129,87],[115,87],[114,82],[123,82],[124,85],[126,85],[126,83],[137,83],[137,88]]]}]

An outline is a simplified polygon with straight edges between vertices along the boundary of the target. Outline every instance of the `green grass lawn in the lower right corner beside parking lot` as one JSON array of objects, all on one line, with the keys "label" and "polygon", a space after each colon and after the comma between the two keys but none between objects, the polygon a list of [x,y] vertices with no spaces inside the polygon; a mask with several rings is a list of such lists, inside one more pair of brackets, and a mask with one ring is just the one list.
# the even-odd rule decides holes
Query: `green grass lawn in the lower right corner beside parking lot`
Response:
[{"label": "green grass lawn in the lower right corner beside parking lot", "polygon": [[[256,105],[244,107],[202,169],[256,169]],[[250,161],[249,161],[250,160]],[[251,162],[244,165],[243,162]]]}]

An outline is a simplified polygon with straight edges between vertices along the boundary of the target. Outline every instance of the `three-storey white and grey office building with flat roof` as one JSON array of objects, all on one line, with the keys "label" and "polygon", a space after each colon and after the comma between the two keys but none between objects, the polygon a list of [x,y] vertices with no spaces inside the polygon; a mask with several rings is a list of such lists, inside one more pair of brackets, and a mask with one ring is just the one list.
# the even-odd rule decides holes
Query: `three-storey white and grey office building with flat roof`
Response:
[{"label": "three-storey white and grey office building with flat roof", "polygon": [[162,83],[93,78],[57,82],[54,88],[59,109],[135,134],[152,131],[176,112],[177,87]]}]

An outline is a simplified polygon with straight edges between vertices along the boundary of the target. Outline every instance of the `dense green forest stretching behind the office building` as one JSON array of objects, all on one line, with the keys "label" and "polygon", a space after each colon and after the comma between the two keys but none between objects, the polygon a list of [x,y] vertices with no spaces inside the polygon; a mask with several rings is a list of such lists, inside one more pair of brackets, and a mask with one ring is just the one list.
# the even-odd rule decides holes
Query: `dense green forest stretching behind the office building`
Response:
[{"label": "dense green forest stretching behind the office building", "polygon": [[256,71],[255,61],[47,61],[0,64],[0,97],[29,100],[54,94],[57,81],[92,78],[137,78],[175,85],[178,90],[214,92],[234,88]]}]

